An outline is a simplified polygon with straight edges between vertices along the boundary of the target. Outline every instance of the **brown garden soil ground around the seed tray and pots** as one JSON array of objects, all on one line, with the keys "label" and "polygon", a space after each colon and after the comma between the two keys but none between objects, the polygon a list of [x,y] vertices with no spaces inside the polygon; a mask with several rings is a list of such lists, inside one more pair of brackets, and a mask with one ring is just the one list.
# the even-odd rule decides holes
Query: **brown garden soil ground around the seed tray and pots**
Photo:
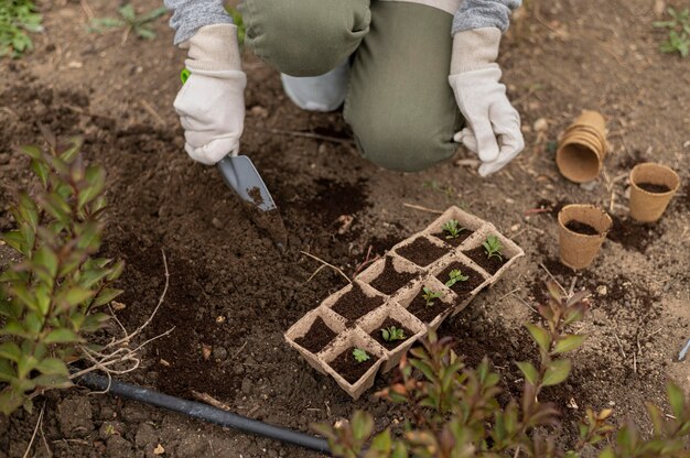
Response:
[{"label": "brown garden soil ground around the seed tray and pots", "polygon": [[[396,371],[353,402],[290,348],[283,332],[347,285],[330,268],[310,281],[323,264],[302,251],[352,276],[435,218],[403,205],[413,204],[434,210],[459,205],[525,249],[515,269],[439,329],[456,339],[468,363],[493,361],[503,377],[504,403],[519,402],[515,361],[537,358],[522,324],[535,318],[525,303],[540,301],[549,279],[545,268],[565,288],[574,282],[593,293],[592,312],[576,329],[587,340],[573,353],[571,378],[540,395],[563,412],[560,447],[576,440],[573,422],[586,407],[611,407],[614,423],[630,419],[649,430],[645,403],[668,412],[665,383],[690,386],[690,363],[677,361],[690,337],[690,235],[684,231],[690,228],[690,98],[682,97],[690,73],[687,59],[658,51],[668,33],[653,26],[665,19],[655,3],[680,9],[682,1],[529,2],[500,53],[527,148],[505,172],[487,178],[466,165],[476,157],[462,149],[456,157],[463,161],[419,174],[377,168],[358,155],[339,112],[299,110],[284,96],[279,74],[245,52],[241,151],[278,204],[288,232],[284,252],[251,222],[215,167],[193,163],[184,153],[172,102],[186,53],[172,46],[166,19],[153,24],[155,40],[130,34],[122,44],[121,30],[88,32],[89,14],[117,17],[118,2],[36,3],[46,31],[34,35],[34,53],[0,59],[0,74],[8,76],[0,85],[0,230],[14,227],[13,196],[35,183],[28,161],[12,148],[41,142],[36,121],[63,139],[82,135],[85,159],[108,172],[103,255],[127,261],[118,285],[126,291],[119,299],[125,308],[116,314],[128,331],[149,318],[163,292],[162,252],[171,275],[161,308],[136,344],[170,334],[148,344],[141,367],[118,379],[188,400],[193,392],[206,393],[238,414],[301,432],[357,408],[371,412],[377,428],[403,418],[399,406],[373,396]],[[160,7],[160,0],[132,3],[141,12]],[[582,108],[604,112],[612,151],[607,178],[581,186],[560,176],[553,154],[559,133]],[[664,218],[649,228],[626,219],[625,176],[643,160],[668,164],[683,182]],[[429,182],[442,192],[425,186]],[[561,269],[558,225],[550,215],[559,204],[535,212],[535,203],[542,200],[613,207],[618,222],[587,270]],[[10,257],[0,244],[0,269]],[[434,307],[440,312],[441,302]],[[111,337],[121,337],[115,320],[100,335],[104,341]],[[207,359],[204,348],[212,351]],[[159,445],[164,456],[179,458],[320,456],[84,389],[46,393],[35,403],[31,414],[0,416],[0,458],[24,456],[42,408],[42,427],[29,454],[34,457],[153,458]]]}]

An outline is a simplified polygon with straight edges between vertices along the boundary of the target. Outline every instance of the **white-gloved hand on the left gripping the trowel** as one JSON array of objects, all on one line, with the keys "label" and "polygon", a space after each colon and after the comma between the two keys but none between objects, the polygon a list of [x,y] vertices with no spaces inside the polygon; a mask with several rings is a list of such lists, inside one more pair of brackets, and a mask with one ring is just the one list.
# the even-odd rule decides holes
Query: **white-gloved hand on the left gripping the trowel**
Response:
[{"label": "white-gloved hand on the left gripping the trowel", "polygon": [[245,127],[245,87],[237,28],[201,28],[180,47],[188,48],[185,66],[191,75],[175,98],[184,129],[187,154],[213,165],[227,154],[237,155]]}]

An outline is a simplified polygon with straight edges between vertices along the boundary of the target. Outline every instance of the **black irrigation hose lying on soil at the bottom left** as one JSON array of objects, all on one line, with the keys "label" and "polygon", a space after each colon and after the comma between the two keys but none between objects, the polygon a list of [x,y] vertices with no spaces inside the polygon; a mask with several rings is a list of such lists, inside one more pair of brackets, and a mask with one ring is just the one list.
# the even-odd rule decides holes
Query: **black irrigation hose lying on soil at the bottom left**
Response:
[{"label": "black irrigation hose lying on soil at the bottom left", "polygon": [[109,388],[109,392],[117,396],[139,401],[157,407],[168,408],[194,418],[203,419],[204,422],[227,426],[242,433],[270,437],[271,439],[280,440],[282,443],[299,445],[301,447],[321,451],[322,454],[331,452],[328,441],[326,439],[269,425],[268,423],[247,418],[201,402],[169,396],[168,394],[159,393],[157,391],[130,383],[118,382],[117,380],[109,382],[107,377],[97,375],[95,373],[82,375],[78,379],[78,382],[79,384],[94,390],[105,391]]}]

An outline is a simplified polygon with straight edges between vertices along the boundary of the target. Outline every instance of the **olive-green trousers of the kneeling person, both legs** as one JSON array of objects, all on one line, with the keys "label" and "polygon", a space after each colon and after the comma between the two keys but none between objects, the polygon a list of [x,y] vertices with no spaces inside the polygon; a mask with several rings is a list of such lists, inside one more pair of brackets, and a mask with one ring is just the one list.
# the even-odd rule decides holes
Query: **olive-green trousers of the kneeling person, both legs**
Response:
[{"label": "olive-green trousers of the kneeling person, both legs", "polygon": [[317,76],[351,58],[344,117],[362,154],[418,172],[451,157],[462,117],[448,84],[453,17],[410,2],[245,0],[246,44],[281,73]]}]

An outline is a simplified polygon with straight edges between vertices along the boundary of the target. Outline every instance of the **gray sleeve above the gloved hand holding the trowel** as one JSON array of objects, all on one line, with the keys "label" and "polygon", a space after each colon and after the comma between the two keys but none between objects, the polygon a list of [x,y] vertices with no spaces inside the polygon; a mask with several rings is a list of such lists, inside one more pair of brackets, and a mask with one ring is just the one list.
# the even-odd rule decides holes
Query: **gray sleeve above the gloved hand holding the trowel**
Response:
[{"label": "gray sleeve above the gloved hand holding the trowel", "polygon": [[173,12],[170,26],[176,31],[175,44],[191,39],[204,25],[233,23],[223,0],[164,0],[164,3]]}]

